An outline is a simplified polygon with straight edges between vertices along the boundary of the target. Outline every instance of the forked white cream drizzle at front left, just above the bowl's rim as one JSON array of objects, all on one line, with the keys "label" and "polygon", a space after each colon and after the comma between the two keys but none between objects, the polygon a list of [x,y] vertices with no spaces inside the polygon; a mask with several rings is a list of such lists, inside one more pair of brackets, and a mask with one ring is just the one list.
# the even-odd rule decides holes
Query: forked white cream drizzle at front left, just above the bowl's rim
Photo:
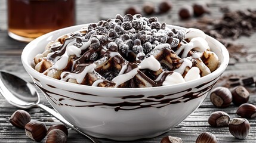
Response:
[{"label": "forked white cream drizzle at front left, just above the bowl's rim", "polygon": [[[86,74],[92,73],[95,68],[96,68],[96,64],[90,64],[87,67],[85,67],[85,69],[82,70],[81,73],[70,73],[68,71],[64,71],[63,73],[60,74],[60,77],[61,77],[61,80],[64,80],[64,81],[66,81],[67,79],[76,79],[76,82],[81,84]],[[65,76],[65,74],[67,75]]]}]

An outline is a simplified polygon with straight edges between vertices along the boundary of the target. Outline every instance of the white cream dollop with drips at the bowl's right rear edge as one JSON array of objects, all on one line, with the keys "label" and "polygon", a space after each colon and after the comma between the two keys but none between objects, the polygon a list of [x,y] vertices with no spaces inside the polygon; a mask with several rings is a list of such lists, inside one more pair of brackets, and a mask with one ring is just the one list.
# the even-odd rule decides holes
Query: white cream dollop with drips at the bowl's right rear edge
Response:
[{"label": "white cream dollop with drips at the bowl's right rear edge", "polygon": [[184,45],[181,45],[180,48],[177,49],[176,54],[180,54],[181,51],[183,51],[181,58],[187,57],[187,54],[189,54],[189,51],[191,49],[195,49],[195,51],[203,52],[206,49],[208,49],[208,43],[205,41],[205,39],[201,37],[193,38],[189,43],[185,43]]}]

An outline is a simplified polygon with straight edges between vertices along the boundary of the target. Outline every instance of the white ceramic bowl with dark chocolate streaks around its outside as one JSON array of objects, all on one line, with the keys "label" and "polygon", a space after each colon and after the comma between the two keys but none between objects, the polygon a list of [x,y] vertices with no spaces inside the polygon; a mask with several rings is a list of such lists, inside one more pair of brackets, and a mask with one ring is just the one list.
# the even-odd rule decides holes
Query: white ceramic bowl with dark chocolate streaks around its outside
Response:
[{"label": "white ceramic bowl with dark chocolate streaks around its outside", "polygon": [[211,51],[218,55],[220,67],[200,79],[177,85],[100,88],[53,79],[32,68],[33,58],[44,51],[48,42],[84,26],[86,24],[67,27],[36,38],[24,48],[21,60],[54,109],[70,123],[97,138],[129,141],[167,132],[201,105],[229,63],[227,49],[206,36]]}]

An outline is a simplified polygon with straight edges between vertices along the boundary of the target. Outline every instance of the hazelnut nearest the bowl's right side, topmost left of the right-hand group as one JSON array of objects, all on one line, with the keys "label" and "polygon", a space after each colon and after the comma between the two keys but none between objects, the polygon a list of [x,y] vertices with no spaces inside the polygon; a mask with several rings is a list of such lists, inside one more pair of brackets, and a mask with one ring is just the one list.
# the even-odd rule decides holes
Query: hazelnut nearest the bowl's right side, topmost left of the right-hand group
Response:
[{"label": "hazelnut nearest the bowl's right side, topmost left of the right-hand group", "polygon": [[210,94],[210,100],[215,106],[225,108],[231,104],[232,94],[228,88],[220,86],[212,89]]}]

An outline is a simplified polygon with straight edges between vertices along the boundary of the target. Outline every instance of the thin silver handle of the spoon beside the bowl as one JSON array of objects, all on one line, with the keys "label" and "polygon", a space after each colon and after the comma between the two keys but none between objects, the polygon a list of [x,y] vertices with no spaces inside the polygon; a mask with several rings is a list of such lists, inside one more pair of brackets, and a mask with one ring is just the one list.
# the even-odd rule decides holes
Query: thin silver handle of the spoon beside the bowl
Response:
[{"label": "thin silver handle of the spoon beside the bowl", "polygon": [[42,104],[38,104],[38,107],[42,108],[43,110],[47,111],[49,114],[53,115],[56,119],[60,120],[62,123],[64,123],[64,125],[67,125],[69,128],[75,130],[76,132],[86,136],[88,139],[90,139],[92,142],[94,143],[100,143],[100,141],[97,141],[97,139],[92,138],[91,136],[83,133],[81,130],[77,129],[74,125],[72,125],[71,123],[69,123],[66,119],[64,119],[60,114],[58,114],[56,111],[54,111],[53,109],[42,105]]}]

